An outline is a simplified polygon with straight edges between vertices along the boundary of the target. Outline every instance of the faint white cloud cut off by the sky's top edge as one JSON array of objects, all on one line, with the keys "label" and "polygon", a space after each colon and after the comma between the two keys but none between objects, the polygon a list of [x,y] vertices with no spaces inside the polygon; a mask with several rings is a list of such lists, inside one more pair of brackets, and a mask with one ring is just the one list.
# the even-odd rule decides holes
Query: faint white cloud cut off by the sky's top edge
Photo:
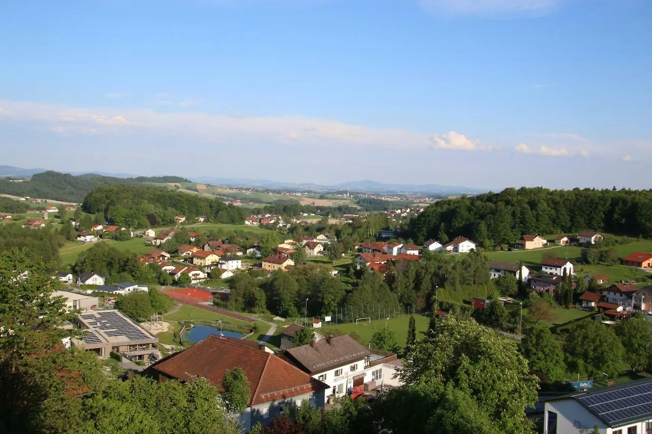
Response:
[{"label": "faint white cloud cut off by the sky's top edge", "polygon": [[422,7],[448,14],[542,14],[562,0],[419,0]]}]

